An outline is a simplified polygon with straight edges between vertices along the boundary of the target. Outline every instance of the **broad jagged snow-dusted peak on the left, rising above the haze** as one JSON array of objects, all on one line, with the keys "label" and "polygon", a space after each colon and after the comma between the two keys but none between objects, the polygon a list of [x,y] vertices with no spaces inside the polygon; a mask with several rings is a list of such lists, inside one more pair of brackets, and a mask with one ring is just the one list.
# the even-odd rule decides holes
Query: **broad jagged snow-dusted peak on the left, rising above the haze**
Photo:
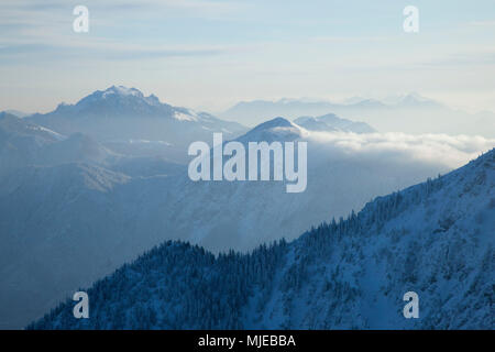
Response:
[{"label": "broad jagged snow-dusted peak on the left, rising above the haze", "polygon": [[[77,120],[80,118],[80,123]],[[139,118],[140,121],[131,121],[131,119]],[[87,134],[95,134],[100,136],[106,134],[106,139],[109,133],[102,132],[101,123],[118,123],[116,127],[109,127],[110,131],[119,131],[123,128],[123,120],[128,120],[128,123],[139,123],[139,127],[125,127],[129,130],[128,134],[136,133],[139,130],[146,129],[146,135],[125,135],[127,139],[157,139],[156,134],[167,134],[170,127],[157,128],[156,119],[162,119],[164,123],[168,122],[179,122],[182,127],[187,125],[193,129],[202,129],[204,131],[209,130],[224,130],[232,131],[242,130],[245,128],[241,127],[234,122],[226,122],[213,116],[207,113],[198,113],[191,109],[174,107],[168,103],[161,102],[155,95],[150,95],[145,97],[141,90],[136,88],[128,88],[123,86],[111,86],[106,90],[96,90],[92,94],[80,99],[76,105],[61,103],[57,109],[53,112],[46,114],[35,113],[28,118],[30,121],[35,123],[47,125],[54,128],[54,130],[61,130],[65,134],[72,134],[74,132],[82,131]],[[70,122],[67,123],[68,119]],[[144,119],[151,119],[147,125],[144,123]],[[186,123],[182,122],[196,122]],[[97,125],[92,125],[97,124]],[[206,125],[204,125],[206,124]],[[182,128],[180,127],[180,128]],[[94,133],[94,130],[97,130]],[[162,131],[162,133],[160,132]],[[189,131],[190,132],[190,131]],[[116,139],[116,133],[111,135]],[[153,136],[151,136],[152,134]],[[238,134],[239,135],[239,134]],[[118,135],[119,138],[121,135]],[[165,140],[165,138],[160,138]]]}]

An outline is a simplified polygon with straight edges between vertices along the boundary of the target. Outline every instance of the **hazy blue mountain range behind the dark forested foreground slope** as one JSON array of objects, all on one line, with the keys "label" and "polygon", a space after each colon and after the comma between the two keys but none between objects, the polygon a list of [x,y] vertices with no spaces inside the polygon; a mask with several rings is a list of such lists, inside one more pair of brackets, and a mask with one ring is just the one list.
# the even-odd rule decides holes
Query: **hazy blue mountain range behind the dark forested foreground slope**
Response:
[{"label": "hazy blue mountain range behind the dark forested foreground slope", "polygon": [[[249,130],[123,87],[48,114],[1,113],[0,327],[25,326],[164,241],[219,253],[293,240],[494,145],[359,133],[366,125],[328,114],[299,123],[276,118]],[[307,142],[306,191],[287,194],[283,182],[191,182],[187,145],[213,132],[241,143]]]}]

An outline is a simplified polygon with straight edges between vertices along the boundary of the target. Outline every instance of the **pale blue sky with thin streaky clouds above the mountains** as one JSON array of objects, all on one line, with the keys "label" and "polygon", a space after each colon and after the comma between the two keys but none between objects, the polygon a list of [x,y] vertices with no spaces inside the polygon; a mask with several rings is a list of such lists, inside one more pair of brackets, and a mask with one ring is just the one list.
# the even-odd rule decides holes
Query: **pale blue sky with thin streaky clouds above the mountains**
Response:
[{"label": "pale blue sky with thin streaky clouds above the mountains", "polygon": [[[89,33],[73,31],[77,4]],[[417,34],[403,31],[408,4]],[[0,110],[124,85],[210,111],[408,91],[495,111],[495,0],[2,0],[0,77]]]}]

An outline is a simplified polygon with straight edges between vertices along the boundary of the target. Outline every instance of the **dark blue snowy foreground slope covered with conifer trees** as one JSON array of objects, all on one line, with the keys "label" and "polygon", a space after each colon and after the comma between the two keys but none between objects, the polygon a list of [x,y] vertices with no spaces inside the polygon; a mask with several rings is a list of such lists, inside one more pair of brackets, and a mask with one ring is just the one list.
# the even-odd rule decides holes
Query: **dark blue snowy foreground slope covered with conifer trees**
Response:
[{"label": "dark blue snowy foreground slope covered with conifer trees", "polygon": [[[292,243],[218,257],[166,242],[32,329],[492,329],[495,151]],[[403,296],[419,296],[405,319]]]}]

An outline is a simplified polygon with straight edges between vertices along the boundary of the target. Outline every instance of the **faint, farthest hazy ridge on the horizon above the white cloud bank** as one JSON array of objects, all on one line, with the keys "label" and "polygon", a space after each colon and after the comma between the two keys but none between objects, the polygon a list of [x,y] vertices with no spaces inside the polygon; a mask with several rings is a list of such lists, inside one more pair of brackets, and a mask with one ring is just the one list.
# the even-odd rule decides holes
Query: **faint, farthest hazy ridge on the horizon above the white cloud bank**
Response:
[{"label": "faint, farthest hazy ridge on the horizon above the white cloud bank", "polygon": [[[296,119],[329,113],[363,121],[380,132],[447,133],[495,138],[495,113],[488,111],[468,113],[417,94],[409,94],[387,103],[363,98],[351,99],[346,103],[308,102],[295,99],[242,101],[220,116],[245,125],[255,125],[277,116]],[[315,121],[307,128],[309,127],[321,129],[321,124]]]}]

